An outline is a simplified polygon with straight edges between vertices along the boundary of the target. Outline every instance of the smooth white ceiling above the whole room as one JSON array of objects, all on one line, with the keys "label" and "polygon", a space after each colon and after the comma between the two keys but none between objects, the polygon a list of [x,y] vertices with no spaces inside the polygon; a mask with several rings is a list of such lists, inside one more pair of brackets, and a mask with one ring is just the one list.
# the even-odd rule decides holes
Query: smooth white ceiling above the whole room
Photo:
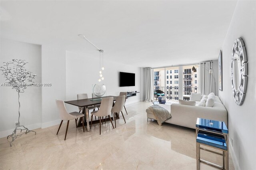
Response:
[{"label": "smooth white ceiling above the whole room", "polygon": [[1,37],[157,67],[217,59],[237,1],[3,1]]}]

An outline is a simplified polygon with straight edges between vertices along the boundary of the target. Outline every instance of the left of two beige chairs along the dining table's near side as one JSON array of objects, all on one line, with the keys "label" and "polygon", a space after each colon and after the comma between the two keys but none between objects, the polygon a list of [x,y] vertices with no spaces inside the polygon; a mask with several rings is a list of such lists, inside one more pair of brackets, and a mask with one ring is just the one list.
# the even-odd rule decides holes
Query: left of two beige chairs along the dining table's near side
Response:
[{"label": "left of two beige chairs along the dining table's near side", "polygon": [[[103,117],[104,116],[108,116],[110,119],[110,122],[112,124],[112,127],[114,128],[114,125],[112,123],[111,117],[110,117],[110,113],[111,113],[111,109],[112,109],[112,105],[113,105],[113,97],[107,97],[107,98],[103,98],[101,101],[101,105],[100,105],[100,110],[98,111],[94,111],[91,113],[92,117],[97,116],[100,118],[100,134],[101,134],[101,120],[103,121]],[[92,119],[91,119],[91,126],[90,128],[92,128]]]}]

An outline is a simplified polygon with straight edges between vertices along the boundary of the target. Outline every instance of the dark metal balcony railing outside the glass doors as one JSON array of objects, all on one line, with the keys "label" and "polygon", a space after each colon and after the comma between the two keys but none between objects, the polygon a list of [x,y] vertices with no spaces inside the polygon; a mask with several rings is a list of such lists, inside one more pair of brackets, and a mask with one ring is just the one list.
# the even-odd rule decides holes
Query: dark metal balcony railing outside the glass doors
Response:
[{"label": "dark metal balcony railing outside the glass doors", "polygon": [[[165,87],[156,86],[155,90],[161,90],[165,92]],[[198,93],[198,87],[183,87],[183,95],[191,95],[191,93]],[[179,99],[179,87],[166,87],[166,99]]]}]

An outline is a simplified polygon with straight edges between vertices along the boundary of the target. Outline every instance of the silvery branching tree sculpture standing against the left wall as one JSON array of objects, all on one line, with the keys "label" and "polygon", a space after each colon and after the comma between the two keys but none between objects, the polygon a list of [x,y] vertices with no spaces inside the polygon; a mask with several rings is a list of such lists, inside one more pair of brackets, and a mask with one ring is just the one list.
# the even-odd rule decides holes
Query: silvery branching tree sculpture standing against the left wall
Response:
[{"label": "silvery branching tree sculpture standing against the left wall", "polygon": [[[13,59],[9,62],[4,62],[4,65],[0,67],[0,70],[3,72],[2,75],[6,78],[6,85],[12,87],[12,89],[16,89],[18,92],[18,103],[19,103],[19,109],[18,109],[18,124],[16,125],[15,129],[13,130],[12,134],[7,136],[7,139],[12,136],[12,141],[10,142],[10,146],[12,146],[12,142],[20,137],[22,134],[27,134],[28,132],[35,132],[33,130],[28,130],[28,128],[20,125],[20,93],[24,93],[24,89],[26,89],[26,86],[33,85],[34,84],[34,77],[35,74],[32,74],[32,72],[27,71],[24,68],[24,65],[27,62],[25,60],[21,59]],[[28,81],[31,84],[26,83]],[[17,130],[20,130],[20,133],[17,134]],[[25,132],[21,133],[22,130],[26,130]],[[36,134],[36,132],[35,132]]]}]

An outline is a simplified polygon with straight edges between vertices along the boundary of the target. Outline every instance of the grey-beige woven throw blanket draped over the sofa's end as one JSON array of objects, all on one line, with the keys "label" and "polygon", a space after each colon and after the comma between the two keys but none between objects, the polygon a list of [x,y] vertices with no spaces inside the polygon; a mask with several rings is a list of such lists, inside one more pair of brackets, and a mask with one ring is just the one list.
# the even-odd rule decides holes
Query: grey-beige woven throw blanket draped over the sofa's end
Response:
[{"label": "grey-beige woven throw blanket draped over the sofa's end", "polygon": [[172,118],[169,111],[159,105],[152,105],[150,106],[150,109],[152,109],[153,115],[160,126],[162,126],[162,123]]}]

